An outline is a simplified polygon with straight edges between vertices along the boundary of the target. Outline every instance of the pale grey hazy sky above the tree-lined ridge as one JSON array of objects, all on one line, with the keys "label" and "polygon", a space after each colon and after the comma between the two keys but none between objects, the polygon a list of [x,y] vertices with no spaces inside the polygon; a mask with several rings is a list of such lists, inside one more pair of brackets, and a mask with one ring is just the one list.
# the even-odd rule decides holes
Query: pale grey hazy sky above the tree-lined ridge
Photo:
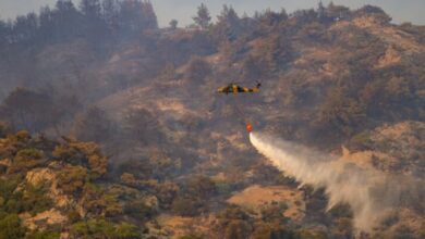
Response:
[{"label": "pale grey hazy sky above the tree-lined ridge", "polygon": [[[167,26],[170,20],[177,18],[180,26],[192,23],[196,8],[204,2],[216,16],[222,4],[231,4],[240,14],[246,12],[252,15],[255,10],[265,9],[287,12],[298,9],[316,8],[318,0],[150,0],[158,15],[160,26]],[[0,0],[0,18],[14,17],[16,14],[26,14],[29,11],[38,12],[41,5],[53,5],[56,0]],[[80,2],[80,0],[74,0]],[[323,1],[325,4],[329,0]],[[394,22],[412,22],[425,25],[425,0],[333,0],[337,4],[357,9],[364,4],[374,4],[389,13]]]}]

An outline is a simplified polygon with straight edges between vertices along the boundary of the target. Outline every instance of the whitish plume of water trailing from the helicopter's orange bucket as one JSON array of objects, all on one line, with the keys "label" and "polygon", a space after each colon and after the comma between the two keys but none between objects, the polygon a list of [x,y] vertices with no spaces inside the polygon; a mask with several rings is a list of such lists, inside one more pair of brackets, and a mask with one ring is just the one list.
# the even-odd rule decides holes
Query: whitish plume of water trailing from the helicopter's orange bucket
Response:
[{"label": "whitish plume of water trailing from the helicopter's orange bucket", "polygon": [[390,209],[385,192],[376,197],[376,189],[387,185],[386,177],[372,169],[363,169],[330,155],[276,139],[258,133],[250,135],[252,144],[272,164],[301,184],[325,187],[329,197],[328,210],[340,202],[349,203],[354,213],[354,227],[369,231]]}]

